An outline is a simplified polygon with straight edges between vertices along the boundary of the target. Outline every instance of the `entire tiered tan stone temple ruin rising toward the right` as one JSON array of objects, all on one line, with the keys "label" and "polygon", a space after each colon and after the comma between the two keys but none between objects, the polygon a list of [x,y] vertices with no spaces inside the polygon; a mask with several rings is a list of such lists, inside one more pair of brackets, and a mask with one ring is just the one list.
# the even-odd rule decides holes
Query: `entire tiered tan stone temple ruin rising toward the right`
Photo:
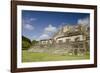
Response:
[{"label": "entire tiered tan stone temple ruin rising toward the right", "polygon": [[50,39],[42,39],[30,52],[84,55],[89,50],[90,27],[88,25],[64,25]]}]

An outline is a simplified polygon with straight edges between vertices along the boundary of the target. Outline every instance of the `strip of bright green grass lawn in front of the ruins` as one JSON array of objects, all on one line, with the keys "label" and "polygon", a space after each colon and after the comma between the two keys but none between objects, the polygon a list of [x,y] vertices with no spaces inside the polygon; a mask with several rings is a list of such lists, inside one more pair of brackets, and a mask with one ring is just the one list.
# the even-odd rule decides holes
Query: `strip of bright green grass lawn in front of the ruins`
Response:
[{"label": "strip of bright green grass lawn in front of the ruins", "polygon": [[40,62],[40,61],[61,61],[61,60],[82,60],[90,59],[89,53],[84,56],[77,55],[60,55],[60,54],[49,54],[49,53],[33,53],[23,50],[22,62]]}]

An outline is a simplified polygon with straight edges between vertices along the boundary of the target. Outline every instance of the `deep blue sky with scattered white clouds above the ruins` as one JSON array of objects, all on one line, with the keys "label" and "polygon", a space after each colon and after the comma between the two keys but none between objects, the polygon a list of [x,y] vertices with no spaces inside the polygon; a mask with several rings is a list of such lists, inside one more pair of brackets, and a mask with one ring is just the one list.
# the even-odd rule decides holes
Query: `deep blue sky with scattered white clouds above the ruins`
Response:
[{"label": "deep blue sky with scattered white clouds above the ruins", "polygon": [[89,24],[89,13],[22,10],[22,35],[30,40],[51,38],[60,26]]}]

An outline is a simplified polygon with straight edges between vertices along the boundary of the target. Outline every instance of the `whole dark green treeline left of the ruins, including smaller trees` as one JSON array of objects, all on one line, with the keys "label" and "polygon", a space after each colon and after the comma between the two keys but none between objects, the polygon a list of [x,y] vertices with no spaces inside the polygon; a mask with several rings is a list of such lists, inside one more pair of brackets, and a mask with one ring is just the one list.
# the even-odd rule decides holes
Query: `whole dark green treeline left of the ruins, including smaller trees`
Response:
[{"label": "whole dark green treeline left of the ruins, including smaller trees", "polygon": [[34,46],[37,43],[38,43],[38,41],[36,41],[36,40],[31,41],[27,37],[22,36],[22,49],[23,50],[28,50],[31,46]]}]

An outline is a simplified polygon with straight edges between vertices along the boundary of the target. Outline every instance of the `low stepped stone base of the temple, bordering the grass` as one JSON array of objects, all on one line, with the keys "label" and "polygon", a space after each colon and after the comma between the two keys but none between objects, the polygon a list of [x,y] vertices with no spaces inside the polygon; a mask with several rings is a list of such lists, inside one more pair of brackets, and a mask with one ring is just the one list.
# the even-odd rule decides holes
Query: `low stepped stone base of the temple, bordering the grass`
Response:
[{"label": "low stepped stone base of the temple, bordering the grass", "polygon": [[[80,46],[80,44],[82,46]],[[83,42],[69,42],[69,43],[59,43],[59,44],[45,44],[45,45],[35,45],[30,47],[29,52],[41,52],[41,53],[51,53],[51,54],[65,54],[78,55],[84,54],[86,51],[83,48]]]}]

